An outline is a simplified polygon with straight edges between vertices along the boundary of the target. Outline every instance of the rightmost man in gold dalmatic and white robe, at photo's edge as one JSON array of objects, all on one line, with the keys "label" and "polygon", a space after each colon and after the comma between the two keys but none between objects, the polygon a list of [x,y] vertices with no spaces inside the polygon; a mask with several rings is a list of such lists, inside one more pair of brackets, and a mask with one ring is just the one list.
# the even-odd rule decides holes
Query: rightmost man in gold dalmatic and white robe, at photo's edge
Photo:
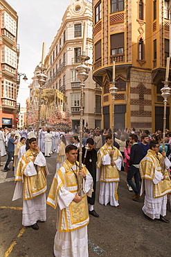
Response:
[{"label": "rightmost man in gold dalmatic and white robe, at photo's edge", "polygon": [[167,194],[171,192],[167,170],[170,166],[171,163],[165,151],[162,154],[159,153],[159,142],[150,141],[150,149],[140,163],[141,194],[145,190],[143,213],[147,219],[169,222],[163,216],[166,215]]}]

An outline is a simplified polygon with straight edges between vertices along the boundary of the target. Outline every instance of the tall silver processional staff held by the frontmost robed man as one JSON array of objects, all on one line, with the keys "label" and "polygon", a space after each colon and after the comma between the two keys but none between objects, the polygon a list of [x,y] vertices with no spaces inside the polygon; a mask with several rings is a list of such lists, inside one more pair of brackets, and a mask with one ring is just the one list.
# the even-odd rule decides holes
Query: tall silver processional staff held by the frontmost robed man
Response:
[{"label": "tall silver processional staff held by the frontmost robed man", "polygon": [[[82,122],[83,122],[83,106],[84,106],[84,81],[87,80],[89,76],[89,67],[85,64],[86,60],[89,60],[89,56],[86,56],[82,52],[82,55],[78,56],[81,61],[81,64],[76,67],[76,72],[78,73],[78,79],[80,80],[80,88],[81,88],[81,99],[80,99],[80,150],[79,150],[79,170],[82,169]],[[78,181],[78,194],[81,196],[81,184],[82,184],[82,177],[79,177]]]}]

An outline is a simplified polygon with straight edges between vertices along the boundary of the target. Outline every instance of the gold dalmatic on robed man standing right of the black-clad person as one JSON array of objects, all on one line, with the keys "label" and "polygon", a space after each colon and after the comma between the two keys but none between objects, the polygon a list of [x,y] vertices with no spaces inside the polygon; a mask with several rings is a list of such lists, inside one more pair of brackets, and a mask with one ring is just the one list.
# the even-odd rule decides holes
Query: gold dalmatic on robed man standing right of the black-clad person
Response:
[{"label": "gold dalmatic on robed man standing right of the black-clad person", "polygon": [[119,172],[116,167],[116,165],[102,165],[102,158],[109,154],[109,151],[114,150],[113,156],[111,156],[111,160],[118,160],[118,156],[123,158],[122,154],[120,154],[120,151],[116,147],[109,147],[109,145],[106,143],[103,145],[103,147],[100,148],[98,151],[98,161],[96,163],[96,166],[98,168],[101,167],[101,173],[100,173],[100,181],[102,182],[116,182],[119,181]]}]

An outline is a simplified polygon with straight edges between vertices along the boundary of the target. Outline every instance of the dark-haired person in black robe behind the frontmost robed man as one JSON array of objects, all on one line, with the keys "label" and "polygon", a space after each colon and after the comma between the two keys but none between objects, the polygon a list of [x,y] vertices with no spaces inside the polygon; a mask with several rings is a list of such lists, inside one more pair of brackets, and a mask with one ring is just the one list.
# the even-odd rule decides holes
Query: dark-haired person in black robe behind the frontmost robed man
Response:
[{"label": "dark-haired person in black robe behind the frontmost robed man", "polygon": [[[88,138],[85,147],[82,147],[82,163],[87,167],[89,173],[93,178],[93,192],[91,197],[87,197],[89,203],[89,214],[94,217],[99,217],[98,213],[94,210],[94,204],[96,199],[96,162],[97,162],[97,151],[93,148],[93,138]],[[87,153],[85,155],[85,153]],[[79,155],[78,155],[79,160]]]}]

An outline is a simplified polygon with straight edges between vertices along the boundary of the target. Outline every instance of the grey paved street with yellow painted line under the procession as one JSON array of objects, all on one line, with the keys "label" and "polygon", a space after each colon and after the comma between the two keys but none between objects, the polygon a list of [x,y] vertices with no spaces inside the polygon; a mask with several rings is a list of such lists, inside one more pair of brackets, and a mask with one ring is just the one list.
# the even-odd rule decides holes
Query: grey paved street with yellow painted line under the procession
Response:
[{"label": "grey paved street with yellow painted line under the procession", "polygon": [[[55,173],[56,154],[46,160],[50,172],[49,190]],[[1,158],[1,164],[4,165],[5,161],[6,156]],[[15,189],[13,172],[0,170],[0,183],[0,257],[53,257],[56,210],[47,206],[47,221],[39,223],[38,231],[25,228],[21,225],[22,201],[12,201]],[[97,195],[98,192],[99,183]],[[120,172],[118,197],[121,208],[102,206],[96,197],[96,212],[100,217],[90,217],[89,256],[170,256],[170,206],[166,217],[170,224],[157,220],[151,222],[142,214],[143,197],[135,202],[131,199],[132,194],[127,189],[126,174]]]}]

